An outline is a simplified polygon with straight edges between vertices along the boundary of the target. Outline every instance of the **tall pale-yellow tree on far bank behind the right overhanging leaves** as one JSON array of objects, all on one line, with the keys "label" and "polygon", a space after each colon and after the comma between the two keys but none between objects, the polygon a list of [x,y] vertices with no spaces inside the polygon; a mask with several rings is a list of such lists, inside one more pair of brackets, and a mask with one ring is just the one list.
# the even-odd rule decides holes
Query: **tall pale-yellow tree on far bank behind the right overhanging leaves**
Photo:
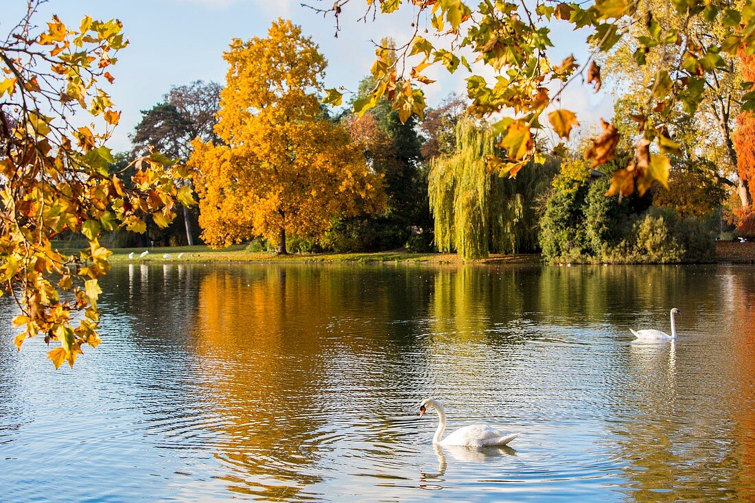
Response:
[{"label": "tall pale-yellow tree on far bank behind the right overhanging leaves", "polygon": [[[716,190],[719,184],[738,193],[743,205],[751,202],[747,177],[737,176],[737,153],[732,136],[736,110],[746,92],[738,59],[734,54],[715,49],[704,51],[704,57],[699,60],[689,51],[666,51],[655,46],[645,51],[638,40],[639,37],[646,37],[643,40],[658,37],[662,32],[679,33],[680,41],[693,48],[712,42],[723,44],[727,24],[732,23],[732,16],[739,14],[730,9],[724,9],[722,14],[680,17],[668,2],[642,2],[636,15],[644,22],[630,26],[633,36],[616,44],[603,67],[604,79],[614,81],[615,88],[621,92],[615,125],[622,137],[630,140],[628,143],[636,143],[642,139],[643,128],[648,124],[664,129],[667,137],[673,137],[673,143],[666,142],[664,151],[675,171],[670,180],[680,182],[676,191],[680,194],[661,196],[661,199],[687,199],[684,206],[688,209],[689,190],[704,196],[710,189],[716,194],[713,199],[720,202],[720,190]],[[637,65],[637,60],[645,63]],[[686,99],[655,99],[651,91],[658,82],[658,69],[663,66],[676,72],[669,75],[687,76],[695,81]],[[703,200],[713,202],[706,197]],[[695,208],[695,212],[699,210],[701,208]]]}]

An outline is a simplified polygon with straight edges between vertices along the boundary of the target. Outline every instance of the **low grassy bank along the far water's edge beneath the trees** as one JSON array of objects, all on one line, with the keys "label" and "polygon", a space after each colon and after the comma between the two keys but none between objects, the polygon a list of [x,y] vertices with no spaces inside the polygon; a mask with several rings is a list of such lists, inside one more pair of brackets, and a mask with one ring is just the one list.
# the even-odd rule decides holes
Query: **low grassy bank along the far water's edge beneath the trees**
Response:
[{"label": "low grassy bank along the far water's edge beneath the trees", "polygon": [[[213,250],[207,246],[176,246],[172,248],[116,248],[112,250],[112,263],[166,263],[166,262],[428,262],[436,264],[461,263],[461,257],[452,253],[409,253],[404,251],[374,253],[316,253],[276,255],[267,252],[247,252],[244,245]],[[128,258],[130,253],[134,258]],[[168,254],[168,256],[164,256]],[[183,254],[181,258],[178,255]],[[479,261],[484,264],[539,264],[540,255],[491,255]]]}]

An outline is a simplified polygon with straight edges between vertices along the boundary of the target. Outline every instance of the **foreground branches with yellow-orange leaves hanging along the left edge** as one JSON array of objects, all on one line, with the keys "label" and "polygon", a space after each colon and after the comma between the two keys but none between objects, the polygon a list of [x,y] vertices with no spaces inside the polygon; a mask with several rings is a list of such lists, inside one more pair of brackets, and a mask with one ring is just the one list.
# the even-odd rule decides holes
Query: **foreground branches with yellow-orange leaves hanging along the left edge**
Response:
[{"label": "foreground branches with yellow-orange leaves hanging along the left edge", "polygon": [[[38,6],[29,2],[0,42],[0,280],[21,310],[16,346],[35,335],[57,341],[48,353],[57,368],[100,343],[97,280],[110,255],[100,232],[143,231],[144,213],[167,226],[175,199],[190,202],[191,192],[176,184],[186,169],[158,153],[137,159],[130,187],[109,172],[103,143],[120,113],[106,82],[128,44],[121,23],[86,16],[71,27],[53,17],[37,29]],[[73,124],[74,115],[92,122]],[[61,252],[53,239],[63,233],[82,233],[88,247]]]}]

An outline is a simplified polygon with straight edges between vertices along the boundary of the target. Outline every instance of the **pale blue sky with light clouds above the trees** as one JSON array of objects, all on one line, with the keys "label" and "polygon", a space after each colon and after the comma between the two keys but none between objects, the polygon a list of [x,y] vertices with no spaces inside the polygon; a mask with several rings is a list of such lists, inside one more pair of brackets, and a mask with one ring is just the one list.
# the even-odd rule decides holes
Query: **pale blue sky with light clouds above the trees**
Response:
[{"label": "pale blue sky with light clouds above the trees", "polygon": [[[316,4],[317,0],[310,3]],[[0,0],[3,38],[23,15],[25,5],[24,0]],[[95,19],[116,17],[122,21],[131,45],[119,53],[119,62],[111,70],[116,82],[110,91],[122,117],[109,147],[128,150],[128,134],[139,122],[140,110],[158,103],[171,85],[196,79],[223,84],[226,66],[222,54],[231,39],[264,36],[278,17],[290,18],[302,26],[305,34],[319,45],[328,60],[325,85],[355,89],[368,74],[374,57],[371,39],[390,35],[398,42],[405,42],[411,36],[408,17],[411,11],[363,23],[358,18],[364,14],[364,5],[366,2],[359,0],[347,5],[337,39],[333,36],[334,20],[301,7],[299,0],[50,0],[42,5],[35,22],[45,26],[52,14],[58,14],[64,23],[78,24],[85,14]],[[585,35],[562,25],[553,26],[551,39],[556,44],[553,59],[574,53],[578,60],[584,60]],[[428,76],[437,79],[425,88],[430,106],[451,91],[465,89],[464,72],[448,76],[438,69],[430,71]],[[606,119],[612,116],[612,100],[607,91],[596,95],[577,82],[566,91],[564,100],[565,107],[578,113],[583,128],[589,129],[600,116]]]}]

